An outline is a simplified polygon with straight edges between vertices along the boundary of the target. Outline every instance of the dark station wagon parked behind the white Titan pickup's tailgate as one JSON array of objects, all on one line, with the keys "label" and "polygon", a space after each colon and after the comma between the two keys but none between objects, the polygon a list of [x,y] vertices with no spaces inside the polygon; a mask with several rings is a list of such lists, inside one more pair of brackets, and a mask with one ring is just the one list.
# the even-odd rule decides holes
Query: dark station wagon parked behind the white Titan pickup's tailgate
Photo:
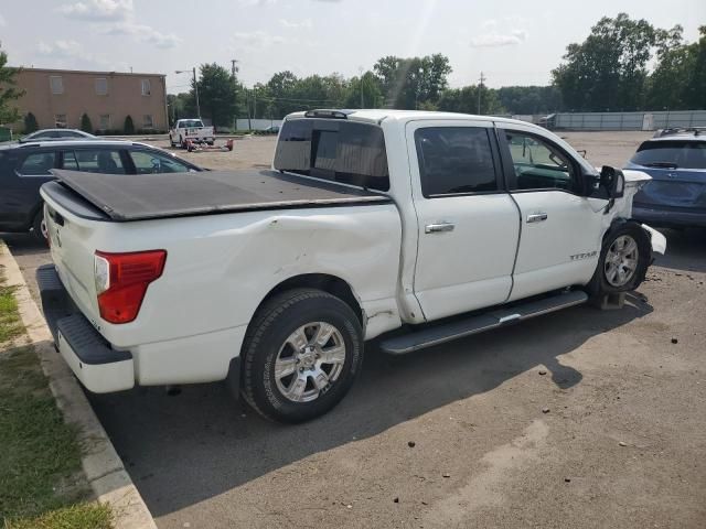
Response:
[{"label": "dark station wagon parked behind the white Titan pickup's tailgate", "polygon": [[29,231],[44,239],[40,187],[51,169],[92,173],[185,173],[203,169],[170,152],[130,141],[45,141],[0,147],[0,231]]}]

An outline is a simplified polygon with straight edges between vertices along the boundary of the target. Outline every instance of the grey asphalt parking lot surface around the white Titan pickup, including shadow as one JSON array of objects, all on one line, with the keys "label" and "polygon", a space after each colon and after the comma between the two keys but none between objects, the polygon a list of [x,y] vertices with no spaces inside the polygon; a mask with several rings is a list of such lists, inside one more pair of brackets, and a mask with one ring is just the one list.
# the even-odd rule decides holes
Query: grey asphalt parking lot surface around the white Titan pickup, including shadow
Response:
[{"label": "grey asphalt parking lot surface around the white Titan pickup, including shadow", "polygon": [[[649,134],[561,136],[620,165]],[[186,156],[266,166],[272,149],[256,138]],[[700,528],[706,231],[665,234],[667,256],[622,310],[574,307],[406,357],[372,344],[346,399],[307,424],[268,423],[220,384],[90,401],[160,528]],[[47,252],[3,238],[35,292]]]}]

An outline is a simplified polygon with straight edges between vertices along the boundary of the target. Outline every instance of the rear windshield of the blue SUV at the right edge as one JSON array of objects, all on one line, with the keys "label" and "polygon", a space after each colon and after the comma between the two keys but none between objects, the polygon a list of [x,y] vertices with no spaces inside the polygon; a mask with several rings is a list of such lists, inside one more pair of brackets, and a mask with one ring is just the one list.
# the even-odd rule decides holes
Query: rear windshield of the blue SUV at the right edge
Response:
[{"label": "rear windshield of the blue SUV at the right edge", "polygon": [[645,168],[706,169],[706,141],[645,141],[631,162]]}]

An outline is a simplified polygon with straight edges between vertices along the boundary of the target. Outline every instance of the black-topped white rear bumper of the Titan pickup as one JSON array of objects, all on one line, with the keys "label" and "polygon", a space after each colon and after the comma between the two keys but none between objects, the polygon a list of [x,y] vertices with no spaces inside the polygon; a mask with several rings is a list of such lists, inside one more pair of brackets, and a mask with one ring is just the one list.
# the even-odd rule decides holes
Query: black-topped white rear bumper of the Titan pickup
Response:
[{"label": "black-topped white rear bumper of the Titan pickup", "polygon": [[96,393],[135,386],[135,364],[129,350],[116,350],[78,312],[53,264],[36,270],[42,310],[54,343],[76,378]]}]

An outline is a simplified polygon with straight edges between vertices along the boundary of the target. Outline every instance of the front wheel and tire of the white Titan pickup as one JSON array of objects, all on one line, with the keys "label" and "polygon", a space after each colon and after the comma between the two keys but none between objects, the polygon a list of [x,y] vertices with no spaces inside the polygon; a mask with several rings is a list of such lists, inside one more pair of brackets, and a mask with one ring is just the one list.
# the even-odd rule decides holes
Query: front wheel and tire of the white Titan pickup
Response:
[{"label": "front wheel and tire of the white Titan pickup", "polygon": [[635,223],[619,224],[603,238],[598,266],[587,291],[598,299],[634,290],[644,281],[651,261],[652,245],[645,230]]}]

